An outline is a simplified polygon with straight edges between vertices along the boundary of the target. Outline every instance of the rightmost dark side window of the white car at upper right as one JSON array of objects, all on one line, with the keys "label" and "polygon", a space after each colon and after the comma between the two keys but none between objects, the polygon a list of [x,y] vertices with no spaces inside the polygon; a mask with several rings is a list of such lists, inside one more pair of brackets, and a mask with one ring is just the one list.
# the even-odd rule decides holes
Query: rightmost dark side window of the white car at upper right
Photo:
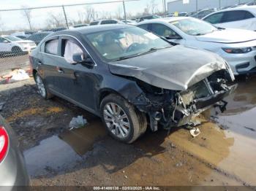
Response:
[{"label": "rightmost dark side window of the white car at upper right", "polygon": [[243,10],[228,11],[228,12],[225,12],[225,15],[223,17],[223,23],[233,22],[237,20],[244,20],[249,17],[253,17],[253,15],[250,12],[246,12]]}]

